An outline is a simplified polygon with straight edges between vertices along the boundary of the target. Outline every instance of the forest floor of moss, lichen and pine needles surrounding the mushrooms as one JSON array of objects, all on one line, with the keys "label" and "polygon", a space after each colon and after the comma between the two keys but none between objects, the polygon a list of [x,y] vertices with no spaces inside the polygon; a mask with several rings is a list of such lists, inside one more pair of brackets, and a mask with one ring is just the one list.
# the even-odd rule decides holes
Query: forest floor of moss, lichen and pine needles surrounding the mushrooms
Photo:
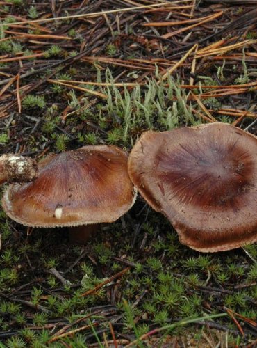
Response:
[{"label": "forest floor of moss, lichen and pine needles surrounding the mushrooms", "polygon": [[[0,17],[1,153],[257,132],[256,1],[6,0]],[[141,197],[85,246],[0,208],[0,249],[0,347],[256,345],[256,246],[193,251]]]}]

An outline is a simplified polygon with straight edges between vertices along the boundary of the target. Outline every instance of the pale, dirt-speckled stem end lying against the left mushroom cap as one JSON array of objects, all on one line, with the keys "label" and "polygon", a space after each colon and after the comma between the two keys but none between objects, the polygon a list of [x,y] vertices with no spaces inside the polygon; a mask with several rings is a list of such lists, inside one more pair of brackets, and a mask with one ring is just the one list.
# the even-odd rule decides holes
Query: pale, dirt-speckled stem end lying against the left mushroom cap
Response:
[{"label": "pale, dirt-speckled stem end lying against the left mushroom cap", "polygon": [[37,176],[38,166],[33,159],[13,154],[0,156],[0,184],[29,182]]}]

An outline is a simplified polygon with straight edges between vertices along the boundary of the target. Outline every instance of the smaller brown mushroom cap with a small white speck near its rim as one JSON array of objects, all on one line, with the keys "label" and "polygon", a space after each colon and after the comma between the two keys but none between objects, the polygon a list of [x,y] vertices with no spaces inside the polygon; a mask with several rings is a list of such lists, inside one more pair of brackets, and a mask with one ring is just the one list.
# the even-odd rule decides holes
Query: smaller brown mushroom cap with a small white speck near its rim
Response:
[{"label": "smaller brown mushroom cap with a small white speck near its rim", "polygon": [[26,226],[113,222],[135,200],[127,161],[124,151],[107,145],[49,156],[39,163],[35,182],[10,185],[3,209]]}]

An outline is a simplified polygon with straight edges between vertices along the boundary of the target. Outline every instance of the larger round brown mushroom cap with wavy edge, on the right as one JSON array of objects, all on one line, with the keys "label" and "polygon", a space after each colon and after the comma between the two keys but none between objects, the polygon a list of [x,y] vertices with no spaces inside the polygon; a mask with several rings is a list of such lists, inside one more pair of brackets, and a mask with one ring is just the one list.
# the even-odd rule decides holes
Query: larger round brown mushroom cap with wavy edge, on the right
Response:
[{"label": "larger round brown mushroom cap with wavy edge, on the right", "polygon": [[180,240],[204,252],[257,241],[257,138],[215,122],[145,132],[128,173]]}]

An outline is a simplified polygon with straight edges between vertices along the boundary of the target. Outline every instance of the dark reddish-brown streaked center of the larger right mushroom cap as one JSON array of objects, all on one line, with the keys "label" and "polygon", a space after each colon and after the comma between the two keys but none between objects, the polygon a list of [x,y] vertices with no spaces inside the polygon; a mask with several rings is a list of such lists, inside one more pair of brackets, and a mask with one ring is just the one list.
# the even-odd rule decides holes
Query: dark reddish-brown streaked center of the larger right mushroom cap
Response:
[{"label": "dark reddish-brown streaked center of the larger right mushroom cap", "polygon": [[[243,204],[240,195],[251,186],[254,163],[247,150],[233,144],[229,147],[209,144],[204,149],[181,145],[173,153],[162,152],[157,158],[158,174],[182,202],[198,207],[220,209],[231,206],[237,210]],[[244,203],[245,204],[245,203]]]}]

